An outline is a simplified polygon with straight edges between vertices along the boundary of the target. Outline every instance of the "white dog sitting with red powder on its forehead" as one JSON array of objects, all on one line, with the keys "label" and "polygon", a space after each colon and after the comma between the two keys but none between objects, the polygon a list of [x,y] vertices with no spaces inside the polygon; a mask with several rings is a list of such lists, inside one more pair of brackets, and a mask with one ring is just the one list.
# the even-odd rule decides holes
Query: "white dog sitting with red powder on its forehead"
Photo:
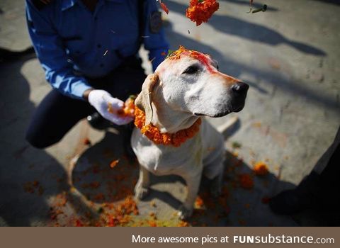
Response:
[{"label": "white dog sitting with red powder on its forehead", "polygon": [[179,217],[188,218],[198,195],[201,176],[211,179],[210,192],[218,196],[222,188],[224,140],[203,116],[217,118],[239,112],[244,107],[249,86],[218,71],[212,57],[193,50],[177,52],[149,74],[135,99],[137,108],[145,112],[145,125],[152,124],[160,133],[176,133],[190,128],[202,118],[196,135],[179,147],[156,144],[135,128],[132,150],[140,164],[135,197],[149,193],[149,173],[176,174],[188,187]]}]

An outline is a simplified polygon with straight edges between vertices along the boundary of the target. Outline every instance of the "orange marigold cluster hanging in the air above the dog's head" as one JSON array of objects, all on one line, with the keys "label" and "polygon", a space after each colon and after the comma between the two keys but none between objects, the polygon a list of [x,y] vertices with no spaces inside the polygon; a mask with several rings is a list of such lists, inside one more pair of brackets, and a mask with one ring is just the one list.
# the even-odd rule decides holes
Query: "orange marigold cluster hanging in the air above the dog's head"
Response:
[{"label": "orange marigold cluster hanging in the air above the dog's head", "polygon": [[196,22],[196,26],[206,23],[215,11],[219,8],[216,0],[191,0],[186,16]]}]

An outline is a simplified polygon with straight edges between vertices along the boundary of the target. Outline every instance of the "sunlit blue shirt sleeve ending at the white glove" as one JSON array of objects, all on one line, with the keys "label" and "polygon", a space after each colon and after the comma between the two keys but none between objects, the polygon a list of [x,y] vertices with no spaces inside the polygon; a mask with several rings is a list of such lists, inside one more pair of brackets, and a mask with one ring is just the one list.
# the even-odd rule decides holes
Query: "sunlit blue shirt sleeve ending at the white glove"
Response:
[{"label": "sunlit blue shirt sleeve ending at the white glove", "polygon": [[91,86],[84,77],[74,75],[72,64],[67,61],[62,38],[44,11],[45,9],[38,11],[30,1],[26,1],[28,33],[40,64],[45,70],[45,77],[52,87],[62,94],[84,100],[84,91],[91,89]]}]

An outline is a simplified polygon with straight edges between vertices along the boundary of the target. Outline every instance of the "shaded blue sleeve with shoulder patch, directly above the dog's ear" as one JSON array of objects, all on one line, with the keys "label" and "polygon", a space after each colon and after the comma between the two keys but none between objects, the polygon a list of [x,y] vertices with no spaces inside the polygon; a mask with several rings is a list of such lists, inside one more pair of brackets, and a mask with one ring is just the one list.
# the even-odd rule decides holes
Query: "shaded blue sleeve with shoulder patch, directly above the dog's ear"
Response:
[{"label": "shaded blue sleeve with shoulder patch, directly above the dog's ear", "polygon": [[149,50],[149,60],[152,61],[152,69],[154,71],[163,62],[169,51],[169,43],[164,35],[164,28],[160,19],[161,14],[157,4],[157,1],[145,0],[144,11],[145,38],[143,38],[143,43],[145,49]]}]

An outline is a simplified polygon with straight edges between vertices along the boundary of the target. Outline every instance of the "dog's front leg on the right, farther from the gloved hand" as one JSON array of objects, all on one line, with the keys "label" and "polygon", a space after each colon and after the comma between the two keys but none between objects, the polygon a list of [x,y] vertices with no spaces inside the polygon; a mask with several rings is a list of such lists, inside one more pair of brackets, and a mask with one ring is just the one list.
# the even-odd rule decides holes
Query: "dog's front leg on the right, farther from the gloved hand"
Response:
[{"label": "dog's front leg on the right, farther from the gloved hand", "polygon": [[187,174],[183,176],[186,180],[186,185],[188,188],[188,194],[186,196],[186,201],[179,208],[179,218],[181,220],[191,217],[193,214],[193,204],[196,201],[198,194],[198,189],[200,188],[200,177],[202,176],[202,171],[198,171],[195,174]]}]

